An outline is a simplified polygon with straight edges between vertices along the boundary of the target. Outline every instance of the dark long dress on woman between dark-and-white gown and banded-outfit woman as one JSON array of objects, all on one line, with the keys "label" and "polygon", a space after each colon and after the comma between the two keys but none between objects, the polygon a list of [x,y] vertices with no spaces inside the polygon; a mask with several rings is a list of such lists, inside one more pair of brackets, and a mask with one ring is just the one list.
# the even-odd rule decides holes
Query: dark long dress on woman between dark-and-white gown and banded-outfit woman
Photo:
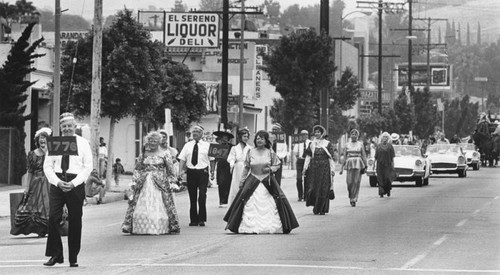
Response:
[{"label": "dark long dress on woman between dark-and-white gown and banded-outfit woman", "polygon": [[[330,156],[333,156],[333,145],[330,142],[326,149]],[[312,150],[314,150],[314,156]],[[311,157],[305,178],[308,186],[306,206],[313,206],[314,214],[328,213],[330,209],[328,193],[332,186],[329,156],[322,147],[311,149],[311,145],[305,154]]]}]

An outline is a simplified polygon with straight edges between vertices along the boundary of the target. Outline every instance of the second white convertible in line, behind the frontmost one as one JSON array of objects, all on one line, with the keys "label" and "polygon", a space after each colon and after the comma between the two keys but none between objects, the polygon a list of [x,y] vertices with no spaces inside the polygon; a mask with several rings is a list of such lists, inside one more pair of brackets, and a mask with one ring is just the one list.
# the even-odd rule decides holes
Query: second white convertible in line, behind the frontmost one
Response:
[{"label": "second white convertible in line, behind the frontmost one", "polygon": [[467,176],[467,160],[460,145],[429,145],[426,155],[432,162],[433,174],[458,174],[460,178]]}]

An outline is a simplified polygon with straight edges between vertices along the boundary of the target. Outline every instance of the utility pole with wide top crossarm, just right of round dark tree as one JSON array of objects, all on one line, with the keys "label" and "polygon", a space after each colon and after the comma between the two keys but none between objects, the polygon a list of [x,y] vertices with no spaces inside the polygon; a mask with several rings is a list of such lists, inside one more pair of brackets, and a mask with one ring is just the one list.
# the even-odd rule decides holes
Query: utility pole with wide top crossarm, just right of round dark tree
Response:
[{"label": "utility pole with wide top crossarm, just right of round dark tree", "polygon": [[[378,2],[371,1],[358,1],[358,8],[371,8],[377,9],[378,11],[378,55],[361,55],[361,57],[377,57],[378,58],[378,87],[377,87],[377,98],[378,104],[377,109],[378,113],[382,114],[382,58],[384,57],[399,57],[399,55],[383,55],[382,54],[382,15],[383,12],[401,12],[402,3],[392,3],[392,2],[384,2],[382,0],[378,0]],[[363,6],[364,4],[364,6]]]}]

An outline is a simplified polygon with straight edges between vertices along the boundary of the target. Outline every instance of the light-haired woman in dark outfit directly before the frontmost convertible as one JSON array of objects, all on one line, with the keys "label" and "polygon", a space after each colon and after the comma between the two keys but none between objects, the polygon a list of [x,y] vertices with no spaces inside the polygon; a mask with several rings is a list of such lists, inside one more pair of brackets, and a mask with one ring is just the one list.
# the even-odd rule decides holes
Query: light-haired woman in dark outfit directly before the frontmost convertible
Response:
[{"label": "light-haired woman in dark outfit directly before the frontmost convertible", "polygon": [[391,196],[392,180],[394,176],[394,148],[389,142],[391,136],[384,132],[380,136],[380,144],[375,151],[375,165],[377,171],[378,194],[381,198],[387,194]]}]

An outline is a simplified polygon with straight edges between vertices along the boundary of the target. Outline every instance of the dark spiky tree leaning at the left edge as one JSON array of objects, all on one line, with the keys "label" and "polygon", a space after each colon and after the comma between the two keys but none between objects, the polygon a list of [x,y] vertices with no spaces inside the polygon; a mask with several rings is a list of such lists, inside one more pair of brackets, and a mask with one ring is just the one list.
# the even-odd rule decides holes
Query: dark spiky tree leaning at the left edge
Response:
[{"label": "dark spiky tree leaning at the left edge", "polygon": [[22,175],[26,173],[26,151],[24,149],[24,123],[31,116],[24,115],[26,110],[27,90],[35,82],[26,80],[26,76],[36,71],[32,67],[34,59],[42,57],[35,50],[43,42],[38,39],[30,45],[30,35],[35,23],[29,24],[23,31],[21,37],[12,46],[7,61],[0,68],[0,125],[14,127],[18,138],[13,140],[14,151],[14,181],[20,182]]}]

